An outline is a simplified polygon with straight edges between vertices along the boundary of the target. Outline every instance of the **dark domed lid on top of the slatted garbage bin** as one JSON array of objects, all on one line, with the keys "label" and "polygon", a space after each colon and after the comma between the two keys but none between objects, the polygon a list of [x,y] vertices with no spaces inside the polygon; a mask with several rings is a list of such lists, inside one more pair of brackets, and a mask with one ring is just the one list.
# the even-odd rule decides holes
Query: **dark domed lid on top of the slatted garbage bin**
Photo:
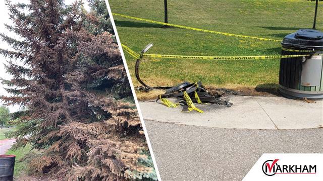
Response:
[{"label": "dark domed lid on top of the slatted garbage bin", "polygon": [[288,48],[323,50],[323,32],[312,29],[300,29],[287,35],[282,45]]}]

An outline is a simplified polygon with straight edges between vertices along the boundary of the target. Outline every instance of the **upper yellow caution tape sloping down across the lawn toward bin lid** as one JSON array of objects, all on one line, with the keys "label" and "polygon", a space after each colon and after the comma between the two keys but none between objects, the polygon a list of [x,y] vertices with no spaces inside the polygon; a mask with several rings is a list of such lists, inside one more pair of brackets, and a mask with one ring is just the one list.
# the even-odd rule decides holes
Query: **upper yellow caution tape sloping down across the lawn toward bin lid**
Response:
[{"label": "upper yellow caution tape sloping down across the lawn toward bin lid", "polygon": [[138,20],[138,21],[144,21],[144,22],[155,23],[155,24],[160,24],[160,25],[168,25],[168,26],[172,26],[172,27],[183,28],[183,29],[194,30],[194,31],[200,31],[200,32],[206,32],[206,33],[214,33],[214,34],[220,34],[220,35],[225,35],[225,36],[248,38],[248,39],[261,40],[261,41],[281,42],[281,40],[274,40],[274,39],[268,39],[268,38],[259,38],[259,37],[252,37],[252,36],[244,36],[244,35],[236,35],[236,34],[217,32],[217,31],[211,31],[211,30],[203,30],[203,29],[199,29],[199,28],[192,28],[192,27],[187,27],[187,26],[174,25],[174,24],[169,24],[169,23],[157,22],[157,21],[153,21],[153,20],[147,20],[147,19],[143,19],[143,18],[131,17],[131,16],[121,15],[121,14],[117,14],[117,13],[113,13],[113,15],[120,16],[120,17],[123,17],[123,18]]}]

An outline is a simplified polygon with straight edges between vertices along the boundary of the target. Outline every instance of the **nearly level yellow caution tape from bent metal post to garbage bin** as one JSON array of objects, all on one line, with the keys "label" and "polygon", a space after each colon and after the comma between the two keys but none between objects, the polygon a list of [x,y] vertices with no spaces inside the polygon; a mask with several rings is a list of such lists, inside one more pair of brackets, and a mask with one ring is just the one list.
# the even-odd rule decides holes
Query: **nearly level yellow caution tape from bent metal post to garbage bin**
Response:
[{"label": "nearly level yellow caution tape from bent metal post to garbage bin", "polygon": [[[319,54],[315,54],[319,55]],[[159,54],[143,54],[144,57],[152,58],[177,58],[177,59],[200,59],[200,60],[263,60],[278,58],[293,58],[307,55],[269,55],[269,56],[192,56],[192,55],[159,55]]]}]

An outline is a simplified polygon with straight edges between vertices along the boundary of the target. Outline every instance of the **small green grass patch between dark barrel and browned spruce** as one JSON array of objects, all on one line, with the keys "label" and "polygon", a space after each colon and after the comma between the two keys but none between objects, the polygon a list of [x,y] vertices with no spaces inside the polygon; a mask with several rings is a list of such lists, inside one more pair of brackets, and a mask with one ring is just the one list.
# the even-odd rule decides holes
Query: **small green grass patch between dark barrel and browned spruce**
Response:
[{"label": "small green grass patch between dark barrel and browned spruce", "polygon": [[14,176],[18,177],[22,175],[26,169],[26,161],[20,161],[21,158],[23,158],[26,154],[30,152],[31,146],[26,145],[25,148],[20,148],[17,150],[9,150],[6,154],[14,154],[16,155],[16,161],[15,161],[15,170],[14,170]]}]

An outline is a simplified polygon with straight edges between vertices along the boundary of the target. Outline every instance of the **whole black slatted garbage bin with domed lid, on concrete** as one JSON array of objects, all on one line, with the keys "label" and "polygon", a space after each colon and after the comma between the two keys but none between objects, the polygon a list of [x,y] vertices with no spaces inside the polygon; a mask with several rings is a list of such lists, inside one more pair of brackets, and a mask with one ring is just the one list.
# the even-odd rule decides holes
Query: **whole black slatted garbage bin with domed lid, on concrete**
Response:
[{"label": "whole black slatted garbage bin with domed lid, on concrete", "polygon": [[323,98],[323,33],[301,29],[282,41],[282,55],[310,55],[282,58],[279,90],[287,98]]}]

